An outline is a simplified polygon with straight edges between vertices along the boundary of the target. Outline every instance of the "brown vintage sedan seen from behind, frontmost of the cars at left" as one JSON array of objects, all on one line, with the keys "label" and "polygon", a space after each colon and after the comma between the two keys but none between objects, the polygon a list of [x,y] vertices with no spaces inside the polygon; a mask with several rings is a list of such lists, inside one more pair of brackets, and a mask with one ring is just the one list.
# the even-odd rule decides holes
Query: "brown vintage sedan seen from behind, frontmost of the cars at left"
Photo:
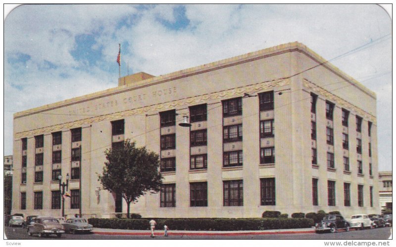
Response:
[{"label": "brown vintage sedan seen from behind, frontmost of the cars at left", "polygon": [[28,225],[28,235],[37,234],[39,237],[55,234],[60,237],[64,233],[64,227],[53,217],[36,217],[34,222]]}]

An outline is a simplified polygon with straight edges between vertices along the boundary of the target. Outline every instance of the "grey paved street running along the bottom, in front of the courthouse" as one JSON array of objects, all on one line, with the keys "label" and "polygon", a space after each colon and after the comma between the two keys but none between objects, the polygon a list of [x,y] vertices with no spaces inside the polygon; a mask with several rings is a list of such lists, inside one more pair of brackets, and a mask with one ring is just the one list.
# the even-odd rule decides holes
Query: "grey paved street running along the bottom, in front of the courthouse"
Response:
[{"label": "grey paved street running along the bottom, in front of the courthouse", "polygon": [[[22,239],[41,239],[41,240],[66,240],[66,239],[85,239],[85,240],[98,240],[98,239],[152,239],[149,236],[133,236],[133,235],[99,235],[99,234],[62,234],[60,238],[55,235],[50,235],[46,238],[39,238],[35,236],[28,236],[27,230],[22,228],[4,227],[5,235],[9,240],[22,240]],[[378,229],[367,229],[362,231],[349,231],[349,232],[337,232],[337,233],[324,233],[324,234],[276,234],[276,235],[240,235],[240,236],[172,236],[172,232],[169,233],[168,237],[163,237],[158,234],[154,239],[180,239],[180,240],[193,240],[193,239],[322,239],[322,240],[337,240],[337,239],[370,239],[370,240],[385,240],[391,235],[391,228],[378,228]]]}]

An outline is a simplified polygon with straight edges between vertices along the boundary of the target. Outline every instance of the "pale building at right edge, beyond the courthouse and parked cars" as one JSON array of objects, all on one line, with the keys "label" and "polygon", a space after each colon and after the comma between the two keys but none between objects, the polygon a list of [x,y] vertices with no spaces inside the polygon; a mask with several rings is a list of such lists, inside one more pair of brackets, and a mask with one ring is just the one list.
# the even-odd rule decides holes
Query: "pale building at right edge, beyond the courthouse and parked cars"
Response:
[{"label": "pale building at right edge, beyond the courthouse and parked cars", "polygon": [[392,210],[392,171],[379,171],[380,207]]}]

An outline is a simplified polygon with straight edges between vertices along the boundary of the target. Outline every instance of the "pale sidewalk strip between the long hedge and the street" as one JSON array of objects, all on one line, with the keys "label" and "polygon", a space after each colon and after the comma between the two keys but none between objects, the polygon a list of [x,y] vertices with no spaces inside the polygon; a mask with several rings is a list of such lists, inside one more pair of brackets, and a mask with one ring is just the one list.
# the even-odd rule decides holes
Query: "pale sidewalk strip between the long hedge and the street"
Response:
[{"label": "pale sidewalk strip between the long hedge and the street", "polygon": [[[135,235],[135,236],[150,236],[150,230],[127,230],[127,229],[107,229],[94,228],[92,231],[95,234],[101,235]],[[274,234],[307,234],[315,233],[314,228],[300,228],[300,229],[274,229],[262,231],[180,231],[168,230],[169,236],[246,236],[246,235],[274,235]],[[155,231],[154,235],[163,236],[163,230]]]}]

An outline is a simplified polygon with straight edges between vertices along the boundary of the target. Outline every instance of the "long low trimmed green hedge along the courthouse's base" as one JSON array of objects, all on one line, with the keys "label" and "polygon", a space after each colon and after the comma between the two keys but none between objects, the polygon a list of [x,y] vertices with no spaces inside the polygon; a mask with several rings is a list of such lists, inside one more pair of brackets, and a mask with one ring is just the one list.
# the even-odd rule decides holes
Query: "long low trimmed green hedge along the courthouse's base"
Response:
[{"label": "long low trimmed green hedge along the courthouse's base", "polygon": [[[90,218],[88,222],[94,227],[110,229],[149,230],[149,219],[100,219]],[[309,228],[314,225],[312,219],[307,218],[183,218],[183,219],[155,219],[156,229],[162,230],[166,224],[170,230],[190,231],[239,231],[239,230],[269,230]]]}]

